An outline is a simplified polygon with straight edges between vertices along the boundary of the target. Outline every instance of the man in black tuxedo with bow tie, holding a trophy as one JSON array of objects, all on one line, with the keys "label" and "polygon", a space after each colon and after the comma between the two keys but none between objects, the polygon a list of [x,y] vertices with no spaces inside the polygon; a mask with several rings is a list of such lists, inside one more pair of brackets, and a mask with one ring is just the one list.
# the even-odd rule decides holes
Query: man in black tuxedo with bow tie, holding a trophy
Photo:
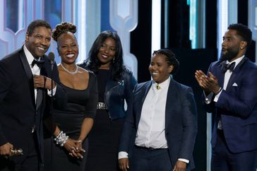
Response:
[{"label": "man in black tuxedo with bow tie, holding a trophy", "polygon": [[[34,20],[28,26],[25,45],[0,60],[0,170],[42,169],[43,114],[51,95],[54,105],[66,103],[56,64],[52,73],[44,55],[51,35],[49,23]],[[15,148],[21,148],[23,155],[13,155]]]}]

